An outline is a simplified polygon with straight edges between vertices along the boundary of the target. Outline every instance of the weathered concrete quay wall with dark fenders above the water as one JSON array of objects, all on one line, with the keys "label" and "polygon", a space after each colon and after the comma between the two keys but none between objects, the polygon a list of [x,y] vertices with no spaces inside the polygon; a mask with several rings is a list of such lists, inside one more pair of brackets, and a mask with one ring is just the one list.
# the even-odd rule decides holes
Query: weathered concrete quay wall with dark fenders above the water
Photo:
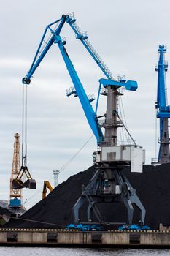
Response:
[{"label": "weathered concrete quay wall with dark fenders above the water", "polygon": [[74,231],[0,229],[0,246],[170,246],[170,231]]}]

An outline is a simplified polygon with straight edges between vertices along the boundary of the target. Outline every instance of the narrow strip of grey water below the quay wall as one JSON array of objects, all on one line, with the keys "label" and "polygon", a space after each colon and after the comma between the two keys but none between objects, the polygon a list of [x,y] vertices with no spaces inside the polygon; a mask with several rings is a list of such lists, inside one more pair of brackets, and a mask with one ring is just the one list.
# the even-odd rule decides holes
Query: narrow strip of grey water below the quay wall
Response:
[{"label": "narrow strip of grey water below the quay wall", "polygon": [[169,249],[87,249],[0,247],[0,256],[168,256]]}]

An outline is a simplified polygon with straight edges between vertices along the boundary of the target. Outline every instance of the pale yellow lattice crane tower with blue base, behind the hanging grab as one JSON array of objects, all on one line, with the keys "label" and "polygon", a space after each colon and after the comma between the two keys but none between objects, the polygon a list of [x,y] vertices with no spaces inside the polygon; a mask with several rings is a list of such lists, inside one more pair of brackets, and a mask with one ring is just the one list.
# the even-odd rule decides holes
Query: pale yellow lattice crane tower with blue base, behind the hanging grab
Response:
[{"label": "pale yellow lattice crane tower with blue base, behind the hanging grab", "polygon": [[20,172],[20,135],[15,133],[14,135],[14,153],[13,153],[13,160],[12,160],[12,172],[10,178],[10,202],[9,208],[10,209],[18,209],[23,208],[22,206],[22,199],[23,199],[23,192],[22,189],[13,189],[12,188],[12,181],[18,176]]}]

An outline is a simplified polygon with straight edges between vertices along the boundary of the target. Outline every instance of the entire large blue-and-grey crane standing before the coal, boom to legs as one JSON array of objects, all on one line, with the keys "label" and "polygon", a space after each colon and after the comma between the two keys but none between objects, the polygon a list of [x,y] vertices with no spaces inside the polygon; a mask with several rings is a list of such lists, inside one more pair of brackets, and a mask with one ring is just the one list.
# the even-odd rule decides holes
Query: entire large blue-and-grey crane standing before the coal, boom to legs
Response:
[{"label": "entire large blue-and-grey crane standing before the coal, boom to legs", "polygon": [[[87,96],[85,89],[80,82],[80,78],[77,75],[76,70],[72,64],[69,54],[66,52],[66,39],[61,38],[61,29],[64,23],[69,23],[69,26],[76,34],[76,38],[82,42],[82,45],[88,50],[90,56],[93,57],[96,64],[104,73],[106,78],[99,80],[98,97],[96,100],[96,108],[93,109],[91,102],[94,100],[93,95]],[[55,28],[53,29],[53,27]],[[47,38],[47,31],[50,31],[50,37]],[[31,76],[34,74],[37,67],[45,57],[50,47],[55,44],[58,45],[61,55],[66,64],[66,68],[69,72],[70,78],[74,86],[66,90],[66,95],[69,97],[72,94],[74,97],[80,99],[82,109],[88,120],[88,124],[96,137],[98,150],[93,154],[93,161],[96,165],[96,173],[91,178],[89,184],[82,190],[82,195],[77,200],[73,207],[74,222],[79,223],[79,210],[80,207],[88,202],[87,219],[88,222],[93,220],[93,214],[95,214],[98,222],[104,223],[105,219],[98,211],[98,203],[117,203],[123,202],[128,211],[128,223],[133,222],[134,208],[133,203],[140,210],[140,224],[144,223],[145,209],[142,205],[139,197],[136,195],[135,189],[131,186],[130,182],[123,174],[123,167],[125,165],[131,165],[132,172],[142,172],[142,164],[144,162],[144,151],[141,146],[137,146],[133,141],[133,144],[117,144],[117,129],[120,127],[126,127],[121,120],[117,110],[118,97],[123,95],[122,87],[136,91],[137,83],[133,80],[125,80],[123,77],[119,77],[118,80],[112,78],[112,73],[109,71],[104,61],[98,55],[96,50],[90,44],[88,40],[88,34],[82,31],[77,26],[76,18],[73,15],[62,15],[62,17],[48,25],[42,36],[42,40],[39,44],[39,48],[36,51],[34,61],[27,75],[23,78],[23,86],[27,86],[31,83]],[[107,111],[103,116],[97,116],[98,103],[100,95],[107,97]],[[104,121],[101,122],[99,118],[104,117]],[[105,129],[103,134],[102,129]],[[128,132],[128,130],[126,129]],[[129,133],[128,133],[129,134]]]}]

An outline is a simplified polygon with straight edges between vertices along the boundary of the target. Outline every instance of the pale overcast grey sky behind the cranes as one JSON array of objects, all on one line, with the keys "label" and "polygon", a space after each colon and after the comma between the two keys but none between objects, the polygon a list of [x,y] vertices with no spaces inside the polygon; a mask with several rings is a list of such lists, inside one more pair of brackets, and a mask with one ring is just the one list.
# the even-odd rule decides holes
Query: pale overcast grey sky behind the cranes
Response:
[{"label": "pale overcast grey sky behind the cranes", "polygon": [[[123,104],[128,129],[136,143],[146,149],[150,163],[155,157],[154,67],[158,44],[167,45],[166,59],[170,59],[169,0],[0,2],[0,198],[9,198],[14,134],[21,134],[21,80],[33,61],[45,26],[70,12],[75,13],[80,28],[88,31],[90,42],[114,77],[124,74],[128,80],[138,82],[136,92],[125,91]],[[66,49],[85,91],[96,94],[103,73],[68,24],[61,35],[66,37]],[[169,89],[169,72],[167,85]],[[24,189],[26,207],[41,199],[43,181],[53,184],[52,171],[60,170],[92,135],[78,98],[66,97],[65,90],[71,86],[58,45],[53,45],[28,86],[28,170],[36,179],[38,192]],[[93,165],[94,150],[93,137],[63,170],[59,181]]]}]

